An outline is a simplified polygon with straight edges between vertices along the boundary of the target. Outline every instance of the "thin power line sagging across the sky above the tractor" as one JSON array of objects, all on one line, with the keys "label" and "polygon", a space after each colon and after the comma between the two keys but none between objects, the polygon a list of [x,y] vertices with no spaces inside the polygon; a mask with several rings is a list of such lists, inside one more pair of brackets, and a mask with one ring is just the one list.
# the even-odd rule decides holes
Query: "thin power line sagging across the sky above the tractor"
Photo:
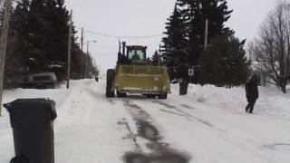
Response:
[{"label": "thin power line sagging across the sky above the tractor", "polygon": [[[78,27],[76,27],[76,28],[81,29]],[[157,38],[157,37],[163,36],[163,34],[125,36],[125,35],[103,34],[103,33],[98,33],[98,32],[94,32],[91,30],[84,30],[84,31],[86,33],[89,33],[89,34],[95,34],[95,35],[99,35],[102,37],[115,38],[115,39],[149,39],[149,38]]]}]

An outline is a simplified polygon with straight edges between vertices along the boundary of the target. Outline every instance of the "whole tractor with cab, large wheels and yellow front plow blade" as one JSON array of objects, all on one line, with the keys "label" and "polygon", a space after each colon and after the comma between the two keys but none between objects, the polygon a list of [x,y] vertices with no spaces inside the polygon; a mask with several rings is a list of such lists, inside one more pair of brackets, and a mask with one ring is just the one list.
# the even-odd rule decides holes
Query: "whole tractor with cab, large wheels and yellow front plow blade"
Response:
[{"label": "whole tractor with cab, large wheels and yellow front plow blade", "polygon": [[[106,97],[112,98],[117,91],[118,97],[127,93],[140,93],[147,97],[158,96],[167,99],[170,82],[167,68],[160,66],[160,57],[147,57],[144,45],[119,44],[118,61],[115,69],[107,70]],[[127,48],[127,53],[126,53]]]}]

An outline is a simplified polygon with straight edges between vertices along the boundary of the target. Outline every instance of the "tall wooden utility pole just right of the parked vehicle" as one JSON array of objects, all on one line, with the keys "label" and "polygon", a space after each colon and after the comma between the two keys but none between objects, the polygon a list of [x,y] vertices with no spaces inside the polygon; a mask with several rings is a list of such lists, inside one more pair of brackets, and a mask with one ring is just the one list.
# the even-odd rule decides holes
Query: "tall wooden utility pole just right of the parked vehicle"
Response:
[{"label": "tall wooden utility pole just right of the parked vehicle", "polygon": [[68,35],[68,51],[67,51],[67,83],[66,88],[70,88],[70,79],[71,79],[71,54],[72,54],[72,25],[73,25],[73,10],[70,15],[69,23],[69,35]]}]

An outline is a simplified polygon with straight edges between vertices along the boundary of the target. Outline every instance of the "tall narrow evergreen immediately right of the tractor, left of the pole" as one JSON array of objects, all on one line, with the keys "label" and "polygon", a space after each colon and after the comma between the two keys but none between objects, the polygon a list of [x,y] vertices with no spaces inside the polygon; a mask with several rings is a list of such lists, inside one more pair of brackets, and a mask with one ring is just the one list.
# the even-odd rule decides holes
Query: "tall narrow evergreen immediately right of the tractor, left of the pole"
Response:
[{"label": "tall narrow evergreen immediately right of the tractor, left of the pole", "polygon": [[162,39],[162,58],[169,68],[170,80],[175,78],[186,78],[186,76],[178,76],[181,74],[179,67],[181,64],[188,63],[186,45],[187,34],[183,16],[179,10],[179,6],[175,5],[172,15],[166,23],[167,36]]}]

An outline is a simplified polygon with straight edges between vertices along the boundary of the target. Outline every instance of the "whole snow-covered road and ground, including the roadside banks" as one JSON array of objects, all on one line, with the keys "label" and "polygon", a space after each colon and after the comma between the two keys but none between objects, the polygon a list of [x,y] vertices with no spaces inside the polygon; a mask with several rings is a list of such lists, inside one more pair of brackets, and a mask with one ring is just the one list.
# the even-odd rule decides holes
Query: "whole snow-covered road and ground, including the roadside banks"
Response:
[{"label": "whole snow-covered road and ground, including the roadside banks", "polygon": [[[70,91],[5,91],[4,100],[49,97],[57,103],[56,163],[289,163],[290,96],[260,88],[247,115],[243,88],[190,86],[169,99],[106,99],[105,82],[74,81]],[[9,117],[0,118],[0,162],[13,157]],[[135,161],[136,162],[136,161]],[[138,162],[138,161],[137,161]]]}]

